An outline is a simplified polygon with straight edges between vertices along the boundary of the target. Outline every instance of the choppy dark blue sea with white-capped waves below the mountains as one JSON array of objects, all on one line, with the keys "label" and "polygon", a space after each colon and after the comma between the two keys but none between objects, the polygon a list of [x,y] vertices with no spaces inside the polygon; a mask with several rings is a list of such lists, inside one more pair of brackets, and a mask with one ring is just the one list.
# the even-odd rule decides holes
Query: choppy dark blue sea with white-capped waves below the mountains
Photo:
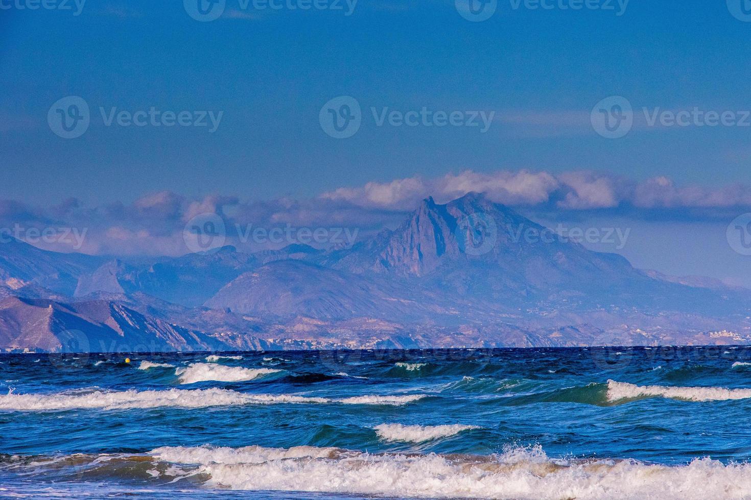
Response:
[{"label": "choppy dark blue sea with white-capped waves below the mountains", "polygon": [[0,497],[751,498],[743,347],[0,355],[0,391]]}]

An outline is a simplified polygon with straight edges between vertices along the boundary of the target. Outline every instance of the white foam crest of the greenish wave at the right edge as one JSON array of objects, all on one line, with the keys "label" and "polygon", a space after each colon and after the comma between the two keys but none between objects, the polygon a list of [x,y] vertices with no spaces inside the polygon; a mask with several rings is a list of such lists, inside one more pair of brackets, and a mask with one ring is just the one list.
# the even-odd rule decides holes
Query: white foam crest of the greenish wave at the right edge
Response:
[{"label": "white foam crest of the greenish wave at the right edge", "polygon": [[719,387],[671,387],[662,385],[634,385],[608,380],[608,400],[617,401],[640,397],[667,397],[683,401],[745,400],[751,389],[725,389]]}]

